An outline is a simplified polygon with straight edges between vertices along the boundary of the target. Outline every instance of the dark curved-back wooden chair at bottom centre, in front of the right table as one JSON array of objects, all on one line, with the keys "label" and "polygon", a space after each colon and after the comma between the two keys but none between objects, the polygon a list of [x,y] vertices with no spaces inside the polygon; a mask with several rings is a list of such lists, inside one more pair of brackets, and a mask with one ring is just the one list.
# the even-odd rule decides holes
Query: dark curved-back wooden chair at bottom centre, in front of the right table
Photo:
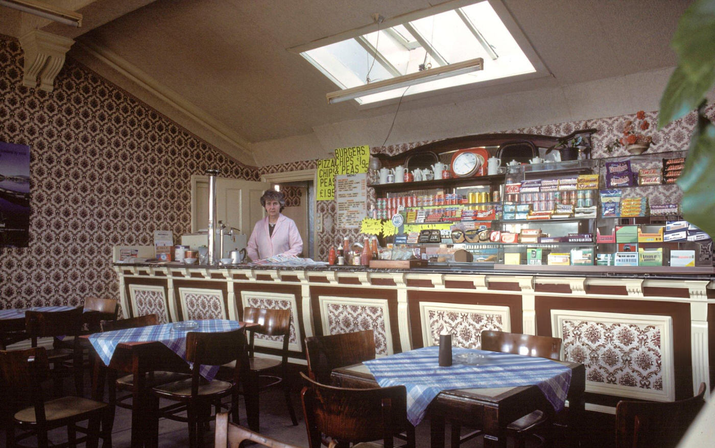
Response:
[{"label": "dark curved-back wooden chair at bottom centre, in front of the right table", "polygon": [[320,384],[300,372],[305,387],[301,398],[310,448],[320,448],[322,436],[330,447],[381,447],[367,443],[382,440],[395,446],[393,437],[407,432],[406,447],[415,447],[415,427],[407,419],[407,390],[404,386],[347,389]]}]

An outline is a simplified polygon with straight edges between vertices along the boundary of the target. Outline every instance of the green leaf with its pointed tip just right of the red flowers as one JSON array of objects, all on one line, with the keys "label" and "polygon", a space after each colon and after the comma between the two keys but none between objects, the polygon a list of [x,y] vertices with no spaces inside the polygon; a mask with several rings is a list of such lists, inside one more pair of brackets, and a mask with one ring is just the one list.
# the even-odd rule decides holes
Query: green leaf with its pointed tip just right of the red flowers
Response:
[{"label": "green leaf with its pointed tip just right of the red flowers", "polygon": [[661,129],[671,121],[696,109],[713,82],[715,82],[715,72],[709,77],[694,78],[688,76],[685,70],[678,66],[668,80],[661,97],[658,128]]}]

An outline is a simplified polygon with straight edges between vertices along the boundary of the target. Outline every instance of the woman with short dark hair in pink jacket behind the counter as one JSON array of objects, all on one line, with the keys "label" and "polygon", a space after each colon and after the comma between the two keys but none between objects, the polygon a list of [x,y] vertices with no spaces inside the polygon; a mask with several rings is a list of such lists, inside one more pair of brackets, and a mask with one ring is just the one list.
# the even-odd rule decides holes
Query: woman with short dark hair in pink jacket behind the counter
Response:
[{"label": "woman with short dark hair in pink jacket behind the counter", "polygon": [[303,240],[295,221],[280,212],[285,199],[280,191],[266,190],[261,196],[261,206],[267,216],[258,221],[246,246],[246,254],[252,261],[275,255],[298,255],[303,251]]}]

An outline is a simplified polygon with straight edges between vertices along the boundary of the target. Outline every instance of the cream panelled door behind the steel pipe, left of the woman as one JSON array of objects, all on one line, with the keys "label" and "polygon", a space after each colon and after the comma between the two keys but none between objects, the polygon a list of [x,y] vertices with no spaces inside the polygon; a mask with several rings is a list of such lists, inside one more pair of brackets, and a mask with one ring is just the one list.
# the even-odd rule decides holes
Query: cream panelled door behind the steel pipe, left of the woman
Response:
[{"label": "cream panelled door behind the steel pipe, left of the woman", "polygon": [[[216,219],[250,237],[253,226],[263,218],[260,197],[269,182],[216,178]],[[191,176],[191,232],[209,225],[209,176]]]}]

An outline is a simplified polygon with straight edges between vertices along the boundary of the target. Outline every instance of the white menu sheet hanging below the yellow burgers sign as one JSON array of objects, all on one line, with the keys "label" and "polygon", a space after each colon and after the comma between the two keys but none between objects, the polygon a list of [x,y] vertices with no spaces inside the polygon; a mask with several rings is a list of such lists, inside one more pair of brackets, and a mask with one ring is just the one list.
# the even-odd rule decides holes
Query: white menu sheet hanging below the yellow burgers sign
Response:
[{"label": "white menu sheet hanging below the yellow burgers sign", "polygon": [[368,174],[338,174],[335,176],[337,227],[360,229],[368,214]]}]

